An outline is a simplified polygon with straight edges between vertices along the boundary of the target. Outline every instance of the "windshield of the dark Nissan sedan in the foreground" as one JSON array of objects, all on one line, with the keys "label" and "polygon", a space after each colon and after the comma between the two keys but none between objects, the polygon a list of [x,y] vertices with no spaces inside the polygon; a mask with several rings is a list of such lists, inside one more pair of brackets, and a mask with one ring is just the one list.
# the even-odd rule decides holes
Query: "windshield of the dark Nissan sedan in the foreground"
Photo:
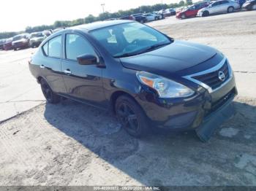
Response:
[{"label": "windshield of the dark Nissan sedan in the foreground", "polygon": [[172,42],[159,31],[140,23],[124,23],[91,31],[114,58],[138,55]]}]

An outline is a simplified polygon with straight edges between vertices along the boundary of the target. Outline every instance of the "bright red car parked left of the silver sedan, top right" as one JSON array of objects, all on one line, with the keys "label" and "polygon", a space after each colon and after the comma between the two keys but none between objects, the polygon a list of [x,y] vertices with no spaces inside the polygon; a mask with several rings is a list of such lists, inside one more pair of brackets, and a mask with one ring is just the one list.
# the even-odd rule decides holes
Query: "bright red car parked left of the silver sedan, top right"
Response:
[{"label": "bright red car parked left of the silver sedan, top right", "polygon": [[181,10],[181,12],[176,13],[176,18],[189,18],[189,17],[196,17],[197,12],[200,9],[203,9],[204,7],[208,7],[208,3],[201,3],[201,4],[193,4],[190,7],[187,7],[187,9]]}]

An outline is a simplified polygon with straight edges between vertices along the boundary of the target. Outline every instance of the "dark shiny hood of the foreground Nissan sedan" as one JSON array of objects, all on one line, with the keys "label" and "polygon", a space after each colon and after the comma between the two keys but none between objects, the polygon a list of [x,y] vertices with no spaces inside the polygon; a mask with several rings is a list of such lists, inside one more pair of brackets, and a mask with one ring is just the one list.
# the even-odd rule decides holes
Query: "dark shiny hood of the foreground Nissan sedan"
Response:
[{"label": "dark shiny hood of the foreground Nissan sedan", "polygon": [[128,69],[169,76],[170,73],[177,73],[203,63],[216,53],[217,50],[206,45],[174,41],[151,52],[120,58],[120,61]]}]

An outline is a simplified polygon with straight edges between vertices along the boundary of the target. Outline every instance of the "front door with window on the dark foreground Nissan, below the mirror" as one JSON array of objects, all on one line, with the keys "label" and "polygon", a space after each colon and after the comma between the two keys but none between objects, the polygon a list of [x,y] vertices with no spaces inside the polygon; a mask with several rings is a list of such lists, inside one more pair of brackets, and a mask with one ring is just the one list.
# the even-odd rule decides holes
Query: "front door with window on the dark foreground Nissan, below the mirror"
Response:
[{"label": "front door with window on the dark foreground Nissan, below the mirror", "polygon": [[67,95],[99,105],[105,101],[102,87],[102,69],[96,63],[80,65],[78,55],[97,55],[91,44],[78,34],[66,34],[66,59],[62,61],[62,72],[67,87]]}]

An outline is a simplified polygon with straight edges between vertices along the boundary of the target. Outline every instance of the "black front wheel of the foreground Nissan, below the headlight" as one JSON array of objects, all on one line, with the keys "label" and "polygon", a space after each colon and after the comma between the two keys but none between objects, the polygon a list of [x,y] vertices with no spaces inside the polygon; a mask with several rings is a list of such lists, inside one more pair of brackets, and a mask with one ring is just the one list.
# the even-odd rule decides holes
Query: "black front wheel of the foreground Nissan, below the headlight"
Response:
[{"label": "black front wheel of the foreground Nissan, below the headlight", "polygon": [[140,106],[127,95],[121,95],[115,103],[116,117],[130,136],[140,138],[149,131],[148,119]]}]

